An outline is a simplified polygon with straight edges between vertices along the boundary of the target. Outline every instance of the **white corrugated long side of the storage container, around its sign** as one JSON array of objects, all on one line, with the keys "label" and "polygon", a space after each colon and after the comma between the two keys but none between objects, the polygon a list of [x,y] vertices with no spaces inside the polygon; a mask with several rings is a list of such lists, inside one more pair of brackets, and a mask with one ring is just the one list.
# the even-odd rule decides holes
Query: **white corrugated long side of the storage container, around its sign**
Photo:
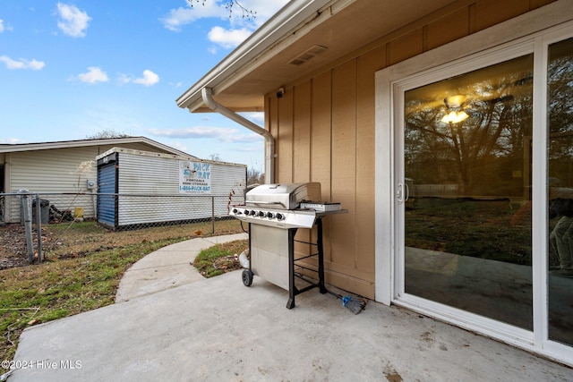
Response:
[{"label": "white corrugated long side of the storage container, around its sign", "polygon": [[[120,194],[161,194],[163,196],[120,196],[117,225],[141,225],[191,219],[210,218],[215,203],[215,216],[228,215],[228,198],[243,201],[246,167],[211,164],[209,194],[179,193],[179,162],[181,159],[152,157],[119,152],[118,192]],[[165,195],[171,195],[170,197]]]}]

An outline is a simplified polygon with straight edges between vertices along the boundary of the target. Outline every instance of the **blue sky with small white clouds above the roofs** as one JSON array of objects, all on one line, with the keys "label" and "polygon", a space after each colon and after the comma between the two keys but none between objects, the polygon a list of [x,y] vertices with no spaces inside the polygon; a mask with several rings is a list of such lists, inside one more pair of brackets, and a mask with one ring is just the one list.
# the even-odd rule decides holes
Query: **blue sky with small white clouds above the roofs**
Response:
[{"label": "blue sky with small white clouds above the roofs", "polygon": [[[261,137],[175,99],[287,0],[0,1],[0,143],[146,136],[262,169]],[[262,124],[261,114],[245,115]]]}]

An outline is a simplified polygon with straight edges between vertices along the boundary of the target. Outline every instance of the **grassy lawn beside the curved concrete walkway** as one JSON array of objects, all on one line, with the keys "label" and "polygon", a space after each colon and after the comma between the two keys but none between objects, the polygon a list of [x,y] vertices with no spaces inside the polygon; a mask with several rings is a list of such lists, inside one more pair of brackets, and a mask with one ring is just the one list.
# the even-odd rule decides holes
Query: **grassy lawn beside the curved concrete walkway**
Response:
[{"label": "grassy lawn beside the curved concrete walkway", "polygon": [[[155,226],[113,232],[93,221],[45,225],[42,264],[0,270],[0,360],[12,360],[26,327],[94,310],[115,302],[124,272],[148,253],[175,242],[212,234],[210,222]],[[241,232],[237,220],[216,223],[215,233]],[[239,267],[235,253],[247,241],[204,250],[210,267],[205,276]],[[0,249],[0,254],[2,253]],[[3,374],[6,369],[0,369]]]}]

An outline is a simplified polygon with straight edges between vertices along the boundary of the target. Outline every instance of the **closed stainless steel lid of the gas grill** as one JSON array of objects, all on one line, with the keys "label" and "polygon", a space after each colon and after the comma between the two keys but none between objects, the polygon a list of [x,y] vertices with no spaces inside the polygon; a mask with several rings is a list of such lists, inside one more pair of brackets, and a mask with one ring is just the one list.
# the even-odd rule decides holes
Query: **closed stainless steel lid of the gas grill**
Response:
[{"label": "closed stainless steel lid of the gas grill", "polygon": [[318,200],[321,200],[321,183],[273,183],[248,191],[244,202],[251,207],[295,209],[302,201]]}]

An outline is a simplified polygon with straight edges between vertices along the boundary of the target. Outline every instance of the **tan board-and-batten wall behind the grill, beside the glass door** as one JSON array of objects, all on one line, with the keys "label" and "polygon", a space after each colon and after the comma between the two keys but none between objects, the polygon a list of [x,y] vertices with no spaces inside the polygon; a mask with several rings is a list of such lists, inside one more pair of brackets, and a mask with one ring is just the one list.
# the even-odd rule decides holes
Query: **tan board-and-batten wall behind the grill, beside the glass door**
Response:
[{"label": "tan board-and-batten wall behind the grill, beside the glass door", "polygon": [[552,1],[460,0],[266,95],[275,181],[320,182],[348,209],[324,220],[327,283],[374,298],[374,73]]}]

